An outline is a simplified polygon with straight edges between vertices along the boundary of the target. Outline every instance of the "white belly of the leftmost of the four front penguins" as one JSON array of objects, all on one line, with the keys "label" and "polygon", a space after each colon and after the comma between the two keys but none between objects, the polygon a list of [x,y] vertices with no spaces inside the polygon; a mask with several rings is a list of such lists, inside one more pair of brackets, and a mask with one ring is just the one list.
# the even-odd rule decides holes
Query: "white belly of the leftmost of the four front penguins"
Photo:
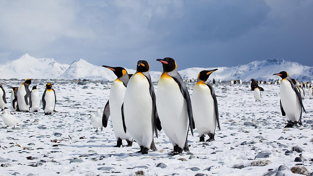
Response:
[{"label": "white belly of the leftmost of the four front penguins", "polygon": [[124,100],[126,87],[123,82],[119,79],[116,79],[110,89],[110,116],[113,125],[113,130],[116,139],[127,139],[132,140],[133,137],[129,134],[128,131],[124,132],[121,107]]}]

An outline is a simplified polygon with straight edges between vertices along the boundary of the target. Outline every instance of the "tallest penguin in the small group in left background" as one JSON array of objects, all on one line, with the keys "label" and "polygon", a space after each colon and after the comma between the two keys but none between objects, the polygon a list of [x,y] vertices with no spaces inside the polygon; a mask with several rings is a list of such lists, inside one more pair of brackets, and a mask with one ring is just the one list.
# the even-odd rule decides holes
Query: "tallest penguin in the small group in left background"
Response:
[{"label": "tallest penguin in the small group in left background", "polygon": [[25,82],[18,88],[18,104],[21,111],[28,112],[31,106],[30,91],[28,89],[31,84],[31,79],[26,79]]}]

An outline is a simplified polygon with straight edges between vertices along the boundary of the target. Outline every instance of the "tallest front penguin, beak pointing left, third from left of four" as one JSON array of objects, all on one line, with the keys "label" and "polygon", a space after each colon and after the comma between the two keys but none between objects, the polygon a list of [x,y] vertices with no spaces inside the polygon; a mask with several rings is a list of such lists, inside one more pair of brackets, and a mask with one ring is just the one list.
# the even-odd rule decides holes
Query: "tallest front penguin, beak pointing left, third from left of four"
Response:
[{"label": "tallest front penguin, beak pointing left, third from left of four", "polygon": [[195,127],[191,99],[188,89],[177,72],[176,61],[172,58],[156,59],[163,66],[156,91],[156,108],[164,133],[171,140],[174,151],[169,155],[189,151],[188,129],[191,134]]}]

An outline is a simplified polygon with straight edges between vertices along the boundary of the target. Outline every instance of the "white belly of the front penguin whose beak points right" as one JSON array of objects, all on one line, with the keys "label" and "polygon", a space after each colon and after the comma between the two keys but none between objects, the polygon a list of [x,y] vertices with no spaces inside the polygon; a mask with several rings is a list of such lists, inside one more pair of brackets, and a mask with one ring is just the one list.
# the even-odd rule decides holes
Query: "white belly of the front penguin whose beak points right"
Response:
[{"label": "white belly of the front penguin whose beak points right", "polygon": [[191,104],[199,135],[214,134],[217,120],[210,88],[203,83],[197,83],[192,92]]}]

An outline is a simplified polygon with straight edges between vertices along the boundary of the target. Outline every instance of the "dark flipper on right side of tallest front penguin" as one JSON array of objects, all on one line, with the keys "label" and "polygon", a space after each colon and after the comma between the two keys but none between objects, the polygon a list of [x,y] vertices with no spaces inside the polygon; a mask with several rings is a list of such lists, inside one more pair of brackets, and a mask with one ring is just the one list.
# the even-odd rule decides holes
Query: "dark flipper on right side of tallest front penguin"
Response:
[{"label": "dark flipper on right side of tallest front penguin", "polygon": [[194,117],[192,115],[191,99],[190,99],[190,95],[189,95],[188,89],[186,87],[186,84],[183,82],[182,78],[180,77],[180,75],[177,71],[176,72],[172,71],[171,73],[168,72],[167,74],[170,77],[172,77],[175,80],[175,82],[177,82],[183,98],[186,99],[190,131],[191,131],[192,136],[194,136],[193,129],[195,129],[195,121],[194,121]]}]

